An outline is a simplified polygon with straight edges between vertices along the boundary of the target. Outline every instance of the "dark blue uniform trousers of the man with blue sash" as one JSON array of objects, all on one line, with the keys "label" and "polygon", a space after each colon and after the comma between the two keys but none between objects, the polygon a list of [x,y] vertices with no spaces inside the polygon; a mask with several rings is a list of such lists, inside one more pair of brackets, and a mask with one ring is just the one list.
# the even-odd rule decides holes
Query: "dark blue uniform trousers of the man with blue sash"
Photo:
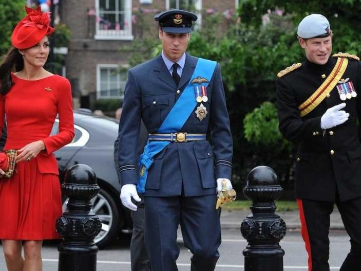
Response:
[{"label": "dark blue uniform trousers of the man with blue sash", "polygon": [[184,246],[191,250],[192,271],[213,271],[221,244],[216,195],[144,197],[145,245],[151,267],[177,271],[177,229],[181,225]]}]

